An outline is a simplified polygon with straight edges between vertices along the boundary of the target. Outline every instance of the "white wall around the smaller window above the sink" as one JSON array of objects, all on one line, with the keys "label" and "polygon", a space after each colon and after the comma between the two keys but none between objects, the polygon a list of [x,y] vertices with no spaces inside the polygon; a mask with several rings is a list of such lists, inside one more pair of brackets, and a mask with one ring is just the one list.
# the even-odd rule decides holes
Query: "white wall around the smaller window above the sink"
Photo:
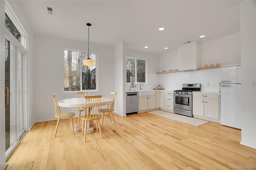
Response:
[{"label": "white wall around the smaller window above the sink", "polygon": [[[143,90],[153,90],[159,82],[159,76],[156,74],[159,68],[159,56],[157,54],[140,52],[126,49],[126,57],[140,58],[147,61],[147,80],[143,83]],[[126,78],[125,78],[126,79]],[[135,90],[140,90],[140,83],[136,83]],[[130,83],[126,83],[126,91],[130,90]]]}]

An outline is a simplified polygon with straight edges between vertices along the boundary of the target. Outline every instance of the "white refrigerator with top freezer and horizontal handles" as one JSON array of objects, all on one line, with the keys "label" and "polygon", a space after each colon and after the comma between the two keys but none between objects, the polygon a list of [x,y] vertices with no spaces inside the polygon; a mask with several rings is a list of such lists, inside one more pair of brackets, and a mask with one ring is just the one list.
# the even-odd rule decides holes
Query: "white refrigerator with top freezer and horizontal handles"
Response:
[{"label": "white refrigerator with top freezer and horizontal handles", "polygon": [[221,66],[220,124],[241,129],[241,65]]}]

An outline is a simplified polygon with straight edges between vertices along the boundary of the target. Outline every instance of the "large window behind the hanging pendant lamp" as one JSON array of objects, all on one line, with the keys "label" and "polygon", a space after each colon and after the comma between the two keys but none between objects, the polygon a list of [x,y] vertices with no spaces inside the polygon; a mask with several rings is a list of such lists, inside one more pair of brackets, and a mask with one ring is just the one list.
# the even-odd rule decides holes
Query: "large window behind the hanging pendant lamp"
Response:
[{"label": "large window behind the hanging pendant lamp", "polygon": [[86,52],[64,50],[64,91],[96,90],[96,54],[90,54],[95,60],[93,66],[84,66]]}]

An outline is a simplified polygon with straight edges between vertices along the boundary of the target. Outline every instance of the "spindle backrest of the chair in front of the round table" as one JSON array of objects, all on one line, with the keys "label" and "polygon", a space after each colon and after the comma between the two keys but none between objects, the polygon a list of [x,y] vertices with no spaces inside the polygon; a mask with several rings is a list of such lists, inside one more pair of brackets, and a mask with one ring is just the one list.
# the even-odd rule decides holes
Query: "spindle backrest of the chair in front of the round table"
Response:
[{"label": "spindle backrest of the chair in front of the round table", "polygon": [[100,98],[102,95],[98,96],[84,96],[85,105],[84,105],[84,119],[97,119],[101,118],[100,115]]}]

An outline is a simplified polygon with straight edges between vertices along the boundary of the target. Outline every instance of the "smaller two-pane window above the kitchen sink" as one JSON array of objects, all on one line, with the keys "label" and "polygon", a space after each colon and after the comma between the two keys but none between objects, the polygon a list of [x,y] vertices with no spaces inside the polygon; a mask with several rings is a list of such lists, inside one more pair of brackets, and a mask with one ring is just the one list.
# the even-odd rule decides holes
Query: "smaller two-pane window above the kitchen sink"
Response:
[{"label": "smaller two-pane window above the kitchen sink", "polygon": [[146,82],[146,60],[126,58],[127,83],[130,83],[130,77],[135,77],[136,82]]}]

